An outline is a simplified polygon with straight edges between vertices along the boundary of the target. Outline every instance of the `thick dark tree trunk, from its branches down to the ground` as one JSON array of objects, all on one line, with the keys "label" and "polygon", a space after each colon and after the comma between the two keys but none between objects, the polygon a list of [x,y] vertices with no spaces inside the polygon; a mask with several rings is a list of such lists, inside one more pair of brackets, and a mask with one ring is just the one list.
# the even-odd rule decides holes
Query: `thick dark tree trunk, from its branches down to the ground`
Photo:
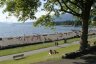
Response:
[{"label": "thick dark tree trunk, from its branches down to the ground", "polygon": [[85,8],[82,12],[82,34],[80,41],[80,50],[85,50],[88,45],[88,23],[90,17],[90,8]]}]

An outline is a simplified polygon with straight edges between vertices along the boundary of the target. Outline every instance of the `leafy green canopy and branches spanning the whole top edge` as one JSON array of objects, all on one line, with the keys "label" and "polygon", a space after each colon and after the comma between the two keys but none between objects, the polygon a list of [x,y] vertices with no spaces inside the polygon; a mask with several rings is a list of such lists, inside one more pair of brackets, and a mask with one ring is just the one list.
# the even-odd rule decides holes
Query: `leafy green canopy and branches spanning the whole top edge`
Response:
[{"label": "leafy green canopy and branches spanning the whole top edge", "polygon": [[48,12],[70,13],[82,17],[82,12],[91,8],[91,15],[96,14],[96,0],[1,0],[1,5],[5,4],[5,12],[14,14],[19,20],[34,19],[34,14],[38,8],[44,4],[44,10]]}]

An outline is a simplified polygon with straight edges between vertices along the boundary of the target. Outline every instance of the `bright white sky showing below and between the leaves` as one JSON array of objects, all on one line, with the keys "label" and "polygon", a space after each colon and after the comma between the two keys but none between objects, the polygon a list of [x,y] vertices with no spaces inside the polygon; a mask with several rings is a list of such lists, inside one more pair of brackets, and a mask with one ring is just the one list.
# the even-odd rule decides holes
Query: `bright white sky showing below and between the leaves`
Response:
[{"label": "bright white sky showing below and between the leaves", "polygon": [[[0,22],[3,23],[19,23],[15,16],[8,16],[8,13],[2,13],[3,8],[0,8]],[[47,12],[38,11],[35,16],[39,18],[41,15],[45,15]],[[34,22],[35,20],[27,20],[26,22]]]}]

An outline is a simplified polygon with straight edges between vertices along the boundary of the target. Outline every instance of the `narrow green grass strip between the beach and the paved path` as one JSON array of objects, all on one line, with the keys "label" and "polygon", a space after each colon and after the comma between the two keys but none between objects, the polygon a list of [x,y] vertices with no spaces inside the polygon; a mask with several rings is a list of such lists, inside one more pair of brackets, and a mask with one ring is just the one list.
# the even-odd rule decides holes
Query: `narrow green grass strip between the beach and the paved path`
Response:
[{"label": "narrow green grass strip between the beach and the paved path", "polygon": [[[74,39],[69,39],[67,42],[71,43],[73,41],[78,41],[78,40],[79,38],[74,38]],[[61,41],[58,41],[58,43],[64,44],[64,41],[61,40]],[[41,49],[41,48],[48,48],[54,45],[55,45],[54,42],[49,42],[49,43],[42,43],[42,44],[35,44],[35,45],[29,45],[29,46],[24,46],[24,47],[0,50],[0,56],[11,55],[11,54],[21,53],[21,52],[26,52],[26,51],[32,51],[32,50]]]}]

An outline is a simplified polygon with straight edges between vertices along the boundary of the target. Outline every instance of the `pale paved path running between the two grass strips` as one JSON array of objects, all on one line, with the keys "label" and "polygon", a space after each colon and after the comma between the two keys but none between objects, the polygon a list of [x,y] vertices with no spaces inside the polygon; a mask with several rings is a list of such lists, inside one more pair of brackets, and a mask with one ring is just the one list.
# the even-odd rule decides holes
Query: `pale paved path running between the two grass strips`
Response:
[{"label": "pale paved path running between the two grass strips", "polygon": [[12,60],[13,56],[19,55],[19,54],[24,54],[24,56],[26,57],[26,56],[29,56],[29,55],[32,55],[32,54],[36,54],[36,53],[40,53],[40,52],[44,52],[44,51],[49,51],[50,49],[58,49],[60,47],[67,47],[67,46],[70,46],[70,45],[79,44],[78,42],[79,41],[76,41],[76,42],[73,42],[73,43],[66,43],[66,44],[58,45],[58,46],[53,46],[53,47],[49,47],[49,48],[43,48],[43,49],[38,49],[38,50],[33,50],[33,51],[27,51],[27,52],[18,53],[18,54],[1,56],[0,61]]}]

